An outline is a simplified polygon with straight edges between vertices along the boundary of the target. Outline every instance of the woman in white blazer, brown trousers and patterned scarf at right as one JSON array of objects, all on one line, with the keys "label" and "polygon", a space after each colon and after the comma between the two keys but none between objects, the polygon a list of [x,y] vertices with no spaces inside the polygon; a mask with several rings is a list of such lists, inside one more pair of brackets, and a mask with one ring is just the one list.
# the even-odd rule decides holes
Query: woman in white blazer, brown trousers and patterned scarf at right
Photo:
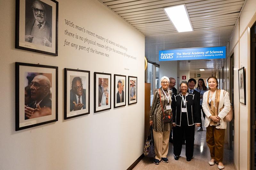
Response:
[{"label": "woman in white blazer, brown trousers and patterned scarf at right", "polygon": [[230,111],[230,100],[227,91],[218,89],[216,77],[208,77],[207,82],[210,90],[203,94],[202,108],[205,113],[206,143],[211,153],[209,164],[217,162],[218,168],[224,169],[222,161],[227,122],[223,119]]}]

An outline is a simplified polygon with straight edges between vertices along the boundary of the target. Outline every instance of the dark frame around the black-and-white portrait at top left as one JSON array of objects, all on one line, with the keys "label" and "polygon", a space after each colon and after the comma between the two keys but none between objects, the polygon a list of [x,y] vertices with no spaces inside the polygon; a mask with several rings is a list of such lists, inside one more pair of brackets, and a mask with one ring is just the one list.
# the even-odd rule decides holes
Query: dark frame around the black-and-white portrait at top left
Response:
[{"label": "dark frame around the black-and-white portrait at top left", "polygon": [[[28,51],[33,51],[33,52],[58,56],[58,13],[59,13],[58,9],[59,9],[59,3],[55,0],[49,0],[49,1],[53,1],[54,3],[56,3],[56,33],[55,33],[56,34],[56,42],[55,42],[56,45],[55,45],[55,53],[20,46],[20,44],[19,44],[20,43],[20,0],[16,0],[16,26],[15,26],[15,28],[16,28],[15,29],[16,30],[15,31],[15,48],[16,49],[28,50]],[[35,44],[33,44],[33,45],[35,45]]]}]

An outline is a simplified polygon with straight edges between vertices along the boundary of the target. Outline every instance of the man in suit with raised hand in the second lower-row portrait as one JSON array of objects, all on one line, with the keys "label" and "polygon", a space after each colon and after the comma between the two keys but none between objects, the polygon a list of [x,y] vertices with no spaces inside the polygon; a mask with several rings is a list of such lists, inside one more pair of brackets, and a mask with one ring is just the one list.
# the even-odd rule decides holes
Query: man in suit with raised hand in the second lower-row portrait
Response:
[{"label": "man in suit with raised hand in the second lower-row portrait", "polygon": [[70,90],[70,112],[86,109],[86,89],[83,89],[82,79],[75,77],[72,80],[72,89]]}]

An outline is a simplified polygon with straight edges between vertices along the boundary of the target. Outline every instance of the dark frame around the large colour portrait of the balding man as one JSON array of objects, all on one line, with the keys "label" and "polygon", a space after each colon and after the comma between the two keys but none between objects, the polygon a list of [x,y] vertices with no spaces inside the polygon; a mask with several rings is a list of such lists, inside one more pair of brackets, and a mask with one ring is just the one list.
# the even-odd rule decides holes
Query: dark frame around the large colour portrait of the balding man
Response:
[{"label": "dark frame around the large colour portrait of the balding man", "polygon": [[[31,67],[41,67],[41,68],[50,68],[50,69],[55,69],[55,74],[56,74],[56,115],[55,115],[55,119],[53,120],[48,120],[45,122],[40,122],[40,123],[36,123],[36,124],[32,124],[32,125],[28,125],[28,126],[24,126],[24,127],[20,127],[20,90],[24,90],[24,87],[22,87],[22,89],[20,89],[20,66],[31,66]],[[52,86],[52,88],[54,88]],[[24,107],[23,107],[24,108]],[[37,118],[35,118],[37,119]],[[51,122],[55,122],[58,121],[58,67],[56,66],[45,66],[45,65],[39,65],[39,64],[28,64],[28,63],[19,63],[16,62],[15,63],[15,130],[22,130],[22,129],[27,129],[27,128],[32,128],[35,126],[39,126],[39,125],[44,125],[47,123],[51,123]]]}]

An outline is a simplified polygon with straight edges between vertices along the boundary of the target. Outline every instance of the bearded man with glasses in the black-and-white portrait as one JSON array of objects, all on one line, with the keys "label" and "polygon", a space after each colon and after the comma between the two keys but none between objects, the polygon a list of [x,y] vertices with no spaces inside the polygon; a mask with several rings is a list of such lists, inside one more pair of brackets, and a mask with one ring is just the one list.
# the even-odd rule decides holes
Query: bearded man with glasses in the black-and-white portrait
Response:
[{"label": "bearded man with glasses in the black-and-white portrait", "polygon": [[[52,47],[52,26],[46,22],[45,6],[41,1],[34,1],[32,5],[33,19],[26,17],[25,41]],[[27,10],[26,10],[27,12]]]}]

